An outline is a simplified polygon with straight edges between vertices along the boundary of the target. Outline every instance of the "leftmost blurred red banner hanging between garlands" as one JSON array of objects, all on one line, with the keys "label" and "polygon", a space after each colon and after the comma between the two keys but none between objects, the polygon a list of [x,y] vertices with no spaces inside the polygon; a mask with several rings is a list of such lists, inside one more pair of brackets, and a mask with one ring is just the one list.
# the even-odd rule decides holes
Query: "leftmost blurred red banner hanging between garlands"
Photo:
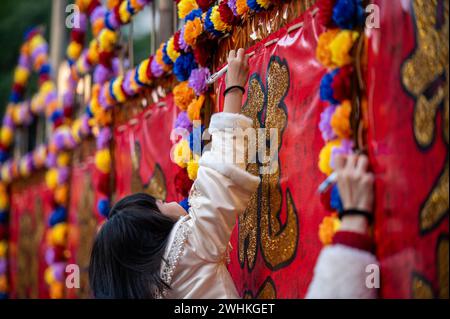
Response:
[{"label": "leftmost blurred red banner hanging between garlands", "polygon": [[11,191],[10,284],[11,298],[48,298],[44,281],[45,234],[52,192],[45,181],[14,185]]}]

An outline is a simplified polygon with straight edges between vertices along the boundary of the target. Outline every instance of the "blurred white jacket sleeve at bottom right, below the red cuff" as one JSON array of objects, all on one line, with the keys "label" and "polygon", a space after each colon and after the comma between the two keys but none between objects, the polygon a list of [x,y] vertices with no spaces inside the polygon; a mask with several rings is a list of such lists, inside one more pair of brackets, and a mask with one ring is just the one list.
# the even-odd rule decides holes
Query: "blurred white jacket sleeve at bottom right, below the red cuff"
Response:
[{"label": "blurred white jacket sleeve at bottom right, below the red cuff", "polygon": [[[377,278],[378,277],[378,278]],[[307,299],[374,299],[378,290],[376,257],[345,245],[331,245],[320,252]]]}]

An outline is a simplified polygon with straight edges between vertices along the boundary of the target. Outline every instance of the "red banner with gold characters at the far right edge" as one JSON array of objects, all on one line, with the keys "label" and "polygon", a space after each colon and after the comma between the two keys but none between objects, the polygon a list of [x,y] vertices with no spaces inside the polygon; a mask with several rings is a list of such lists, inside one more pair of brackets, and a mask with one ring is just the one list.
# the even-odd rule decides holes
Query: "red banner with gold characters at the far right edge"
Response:
[{"label": "red banner with gold characters at the far right edge", "polygon": [[378,0],[368,127],[385,298],[448,298],[448,1]]}]

